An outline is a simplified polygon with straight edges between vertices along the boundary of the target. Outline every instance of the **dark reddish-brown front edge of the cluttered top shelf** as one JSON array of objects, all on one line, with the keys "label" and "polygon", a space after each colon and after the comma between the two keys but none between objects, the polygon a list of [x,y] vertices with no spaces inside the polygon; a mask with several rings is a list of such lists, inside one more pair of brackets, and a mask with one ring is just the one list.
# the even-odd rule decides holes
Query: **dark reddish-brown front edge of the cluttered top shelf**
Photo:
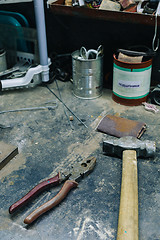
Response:
[{"label": "dark reddish-brown front edge of the cluttered top shelf", "polygon": [[[65,6],[63,2],[64,2],[63,0],[58,0],[50,4],[50,9],[53,14],[75,16],[94,20],[142,24],[148,26],[155,25],[155,16],[150,14],[99,10],[84,7],[72,7]],[[160,17],[158,16],[157,18],[158,18],[157,23],[160,26]]]}]

